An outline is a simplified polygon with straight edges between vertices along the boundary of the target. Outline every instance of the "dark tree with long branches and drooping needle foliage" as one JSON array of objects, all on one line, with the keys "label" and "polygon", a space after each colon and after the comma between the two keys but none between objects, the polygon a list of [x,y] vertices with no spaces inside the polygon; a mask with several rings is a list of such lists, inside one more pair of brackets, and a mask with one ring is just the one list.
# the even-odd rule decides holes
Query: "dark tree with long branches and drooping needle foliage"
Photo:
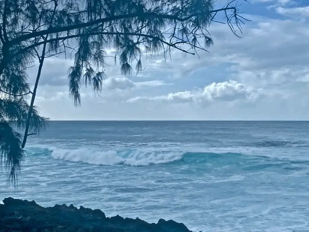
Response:
[{"label": "dark tree with long branches and drooping needle foliage", "polygon": [[[143,54],[156,56],[163,51],[167,56],[171,49],[193,55],[198,49],[207,51],[213,45],[207,29],[219,23],[216,17],[220,14],[238,36],[246,19],[236,0],[220,9],[214,9],[214,0],[2,0],[0,160],[9,168],[11,181],[15,183],[20,171],[28,135],[40,132],[46,122],[33,105],[37,83],[33,92],[27,83],[26,71],[36,55],[41,67],[44,58],[74,53],[68,81],[70,96],[79,106],[82,84],[96,94],[102,90],[108,65],[105,49],[115,50],[115,63],[118,60],[122,75],[129,76],[133,64],[137,73],[142,71]],[[13,127],[26,128],[23,142]]]}]

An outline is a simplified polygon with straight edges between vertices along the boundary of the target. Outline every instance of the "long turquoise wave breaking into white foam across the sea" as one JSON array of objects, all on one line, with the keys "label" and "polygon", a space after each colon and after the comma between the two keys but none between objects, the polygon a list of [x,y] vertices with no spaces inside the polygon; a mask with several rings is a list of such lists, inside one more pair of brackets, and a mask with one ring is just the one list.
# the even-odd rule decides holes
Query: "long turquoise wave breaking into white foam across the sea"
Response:
[{"label": "long turquoise wave breaking into white foam across the sea", "polygon": [[[94,165],[131,165],[147,166],[158,164],[201,164],[212,165],[242,165],[256,168],[263,166],[277,166],[308,161],[289,161],[267,156],[252,156],[240,153],[204,153],[181,151],[145,151],[123,150],[103,151],[100,148],[82,147],[77,149],[35,148],[28,152],[28,156],[51,156],[53,159],[71,162],[88,163]],[[265,167],[266,167],[265,166]]]}]

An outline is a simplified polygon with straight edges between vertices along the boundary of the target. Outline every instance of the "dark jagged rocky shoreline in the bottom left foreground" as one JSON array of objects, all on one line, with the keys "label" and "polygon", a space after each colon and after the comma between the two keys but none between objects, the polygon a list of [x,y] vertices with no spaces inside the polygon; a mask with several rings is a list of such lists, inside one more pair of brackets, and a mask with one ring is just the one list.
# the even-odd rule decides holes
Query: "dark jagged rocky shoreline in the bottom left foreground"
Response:
[{"label": "dark jagged rocky shoreline in the bottom left foreground", "polygon": [[[99,210],[73,205],[41,207],[35,201],[5,198],[0,204],[0,232],[192,232],[183,223],[160,219],[105,217]],[[201,232],[201,231],[200,231]]]}]

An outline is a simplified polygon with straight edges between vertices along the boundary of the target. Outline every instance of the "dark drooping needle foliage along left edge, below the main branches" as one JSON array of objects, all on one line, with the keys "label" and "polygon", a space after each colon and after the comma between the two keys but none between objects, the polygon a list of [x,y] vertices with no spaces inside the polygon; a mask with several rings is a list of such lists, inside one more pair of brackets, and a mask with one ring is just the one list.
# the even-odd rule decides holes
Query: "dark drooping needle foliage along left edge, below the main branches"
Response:
[{"label": "dark drooping needle foliage along left edge, below the main branches", "polygon": [[[17,183],[25,155],[21,148],[22,135],[16,131],[21,131],[28,120],[30,106],[27,100],[31,91],[26,65],[31,61],[32,54],[29,51],[18,54],[12,58],[0,78],[0,166],[2,168],[4,164],[6,167],[8,184]],[[34,108],[29,118],[30,133],[39,134],[44,130],[46,120]]]}]

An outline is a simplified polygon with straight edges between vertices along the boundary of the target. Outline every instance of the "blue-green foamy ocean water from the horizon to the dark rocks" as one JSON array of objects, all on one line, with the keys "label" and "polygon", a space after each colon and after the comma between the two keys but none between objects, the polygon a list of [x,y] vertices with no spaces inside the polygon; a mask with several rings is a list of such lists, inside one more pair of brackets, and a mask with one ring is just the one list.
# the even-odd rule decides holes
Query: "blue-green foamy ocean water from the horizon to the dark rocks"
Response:
[{"label": "blue-green foamy ocean water from the horizon to the dark rocks", "polygon": [[[194,231],[309,231],[309,122],[51,122],[0,196]],[[1,200],[2,200],[1,199]]]}]

